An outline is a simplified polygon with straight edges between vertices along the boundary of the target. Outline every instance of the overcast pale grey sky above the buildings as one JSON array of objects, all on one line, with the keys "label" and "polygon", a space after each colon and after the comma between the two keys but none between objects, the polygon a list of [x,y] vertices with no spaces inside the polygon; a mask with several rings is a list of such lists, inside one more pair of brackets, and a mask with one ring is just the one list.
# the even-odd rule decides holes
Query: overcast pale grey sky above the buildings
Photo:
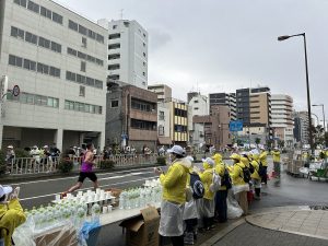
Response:
[{"label": "overcast pale grey sky above the buildings", "polygon": [[[56,0],[62,3],[63,0]],[[149,84],[173,96],[268,85],[306,109],[306,33],[313,104],[328,108],[328,0],[67,0],[91,20],[137,20],[149,32]],[[319,108],[314,112],[321,118]]]}]

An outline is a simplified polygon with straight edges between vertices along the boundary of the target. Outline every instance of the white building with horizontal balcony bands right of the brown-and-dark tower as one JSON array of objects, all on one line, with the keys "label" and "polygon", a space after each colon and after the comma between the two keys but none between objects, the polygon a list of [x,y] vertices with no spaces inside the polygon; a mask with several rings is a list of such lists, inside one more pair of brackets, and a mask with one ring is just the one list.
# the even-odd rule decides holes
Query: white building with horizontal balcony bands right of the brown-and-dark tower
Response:
[{"label": "white building with horizontal balcony bands right of the brown-and-dark tower", "polygon": [[272,128],[274,139],[284,141],[285,147],[292,147],[293,136],[293,98],[289,95],[271,95]]}]

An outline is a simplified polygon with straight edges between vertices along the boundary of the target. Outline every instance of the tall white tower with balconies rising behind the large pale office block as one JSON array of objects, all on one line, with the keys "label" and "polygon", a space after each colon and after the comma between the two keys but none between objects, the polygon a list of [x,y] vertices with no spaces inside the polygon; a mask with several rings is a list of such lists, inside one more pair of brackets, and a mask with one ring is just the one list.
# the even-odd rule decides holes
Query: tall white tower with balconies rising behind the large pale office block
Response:
[{"label": "tall white tower with balconies rising behind the large pale office block", "polygon": [[148,89],[148,32],[137,22],[105,19],[108,30],[108,79]]}]

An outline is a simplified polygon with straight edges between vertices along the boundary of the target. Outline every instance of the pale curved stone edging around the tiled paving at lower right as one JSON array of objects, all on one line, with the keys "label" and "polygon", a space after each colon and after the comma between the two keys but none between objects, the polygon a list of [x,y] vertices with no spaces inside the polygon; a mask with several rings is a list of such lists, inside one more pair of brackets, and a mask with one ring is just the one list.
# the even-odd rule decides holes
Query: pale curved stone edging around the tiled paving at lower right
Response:
[{"label": "pale curved stone edging around the tiled paving at lower right", "polygon": [[271,230],[271,231],[278,231],[278,232],[284,232],[289,234],[295,234],[295,235],[301,235],[301,236],[307,236],[307,237],[313,237],[313,238],[318,238],[318,239],[325,239],[328,241],[328,236],[320,236],[320,235],[314,235],[314,234],[308,234],[308,233],[301,233],[301,232],[295,232],[295,231],[290,231],[290,230],[283,230],[281,226],[265,226],[262,224],[259,224],[258,222],[255,222],[254,218],[259,216],[259,215],[266,215],[266,214],[272,214],[272,213],[280,213],[280,212],[300,212],[300,211],[316,211],[316,210],[311,210],[308,206],[300,206],[300,207],[277,207],[277,208],[271,208],[271,209],[261,209],[257,210],[258,212],[251,215],[247,215],[245,218],[246,223],[251,224],[254,226],[260,227],[260,229],[266,229],[266,230]]}]

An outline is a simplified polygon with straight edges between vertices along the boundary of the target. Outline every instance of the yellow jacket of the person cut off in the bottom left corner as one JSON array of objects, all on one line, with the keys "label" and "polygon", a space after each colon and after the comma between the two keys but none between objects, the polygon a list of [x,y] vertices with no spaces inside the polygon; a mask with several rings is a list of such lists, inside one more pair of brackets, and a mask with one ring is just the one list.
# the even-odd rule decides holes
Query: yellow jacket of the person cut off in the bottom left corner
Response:
[{"label": "yellow jacket of the person cut off in the bottom left corner", "polygon": [[17,199],[12,199],[8,204],[0,204],[0,227],[7,229],[8,234],[2,230],[2,235],[0,237],[4,238],[5,246],[12,246],[11,236],[14,232],[14,229],[23,224],[26,220],[26,215],[23,211],[22,206]]}]

